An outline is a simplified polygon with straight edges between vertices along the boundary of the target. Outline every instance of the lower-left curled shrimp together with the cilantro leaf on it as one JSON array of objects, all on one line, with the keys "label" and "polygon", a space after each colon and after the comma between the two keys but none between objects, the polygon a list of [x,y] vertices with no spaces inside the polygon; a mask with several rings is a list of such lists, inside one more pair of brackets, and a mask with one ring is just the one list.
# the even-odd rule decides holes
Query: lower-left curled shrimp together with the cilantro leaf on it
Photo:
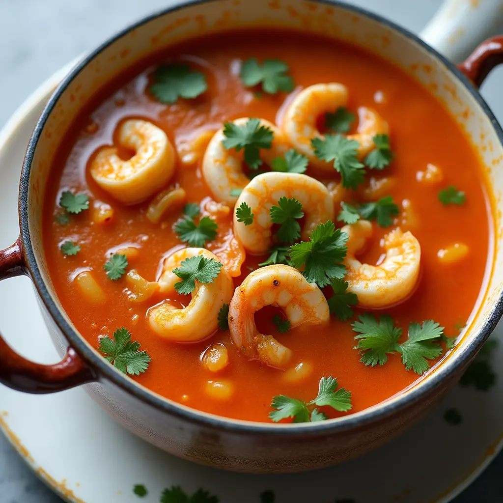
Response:
[{"label": "lower-left curled shrimp together with the cilantro leaf on it", "polygon": [[149,326],[159,337],[179,343],[210,336],[218,328],[222,304],[229,304],[234,292],[229,273],[205,248],[183,248],[167,257],[158,283],[166,296],[175,291],[192,295],[182,309],[166,300],[147,313]]}]

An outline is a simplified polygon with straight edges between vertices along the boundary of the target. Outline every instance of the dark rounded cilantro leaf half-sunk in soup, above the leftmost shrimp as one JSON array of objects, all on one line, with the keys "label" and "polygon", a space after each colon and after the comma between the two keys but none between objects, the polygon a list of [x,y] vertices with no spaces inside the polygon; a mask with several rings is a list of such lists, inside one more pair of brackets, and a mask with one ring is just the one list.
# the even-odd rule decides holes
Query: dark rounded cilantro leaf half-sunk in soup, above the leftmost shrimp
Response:
[{"label": "dark rounded cilantro leaf half-sunk in soup, above the leftmost shrimp", "polygon": [[154,98],[173,105],[179,98],[193,99],[208,89],[206,76],[186,64],[167,64],[157,68],[150,93]]}]

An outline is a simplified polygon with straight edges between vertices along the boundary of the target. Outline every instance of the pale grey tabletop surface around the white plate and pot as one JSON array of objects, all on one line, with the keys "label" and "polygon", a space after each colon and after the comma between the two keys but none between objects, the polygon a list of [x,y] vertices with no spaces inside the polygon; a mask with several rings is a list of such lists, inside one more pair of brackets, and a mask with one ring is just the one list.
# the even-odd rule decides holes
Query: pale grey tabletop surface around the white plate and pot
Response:
[{"label": "pale grey tabletop surface around the white plate and pot", "polygon": [[[165,7],[169,1],[0,0],[0,125],[63,64],[92,49],[124,25]],[[380,13],[413,32],[420,31],[441,4],[441,0],[350,2]],[[500,31],[503,33],[503,27]],[[503,68],[500,68],[491,74],[482,89],[500,122],[503,121],[502,89]],[[462,439],[459,449],[461,453]],[[502,473],[503,454],[455,502],[503,501]],[[441,477],[442,473],[438,475]],[[381,503],[377,498],[378,494],[376,502]],[[1,435],[0,503],[61,503]]]}]

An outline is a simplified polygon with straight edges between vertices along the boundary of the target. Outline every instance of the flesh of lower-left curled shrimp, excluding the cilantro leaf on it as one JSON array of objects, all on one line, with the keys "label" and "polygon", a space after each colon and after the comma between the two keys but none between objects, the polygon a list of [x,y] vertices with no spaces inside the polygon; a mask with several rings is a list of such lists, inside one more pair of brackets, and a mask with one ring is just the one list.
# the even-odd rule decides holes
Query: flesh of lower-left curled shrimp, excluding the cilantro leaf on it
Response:
[{"label": "flesh of lower-left curled shrimp, excluding the cilantro leaf on it", "polygon": [[[165,295],[175,292],[175,283],[180,278],[173,272],[191,257],[202,255],[206,259],[218,258],[204,248],[183,248],[164,260],[158,280],[160,292]],[[199,283],[192,292],[192,299],[183,309],[164,301],[149,309],[147,317],[152,330],[162,339],[178,343],[202,341],[218,328],[218,312],[232,298],[234,285],[229,273],[222,267],[213,283]]]}]

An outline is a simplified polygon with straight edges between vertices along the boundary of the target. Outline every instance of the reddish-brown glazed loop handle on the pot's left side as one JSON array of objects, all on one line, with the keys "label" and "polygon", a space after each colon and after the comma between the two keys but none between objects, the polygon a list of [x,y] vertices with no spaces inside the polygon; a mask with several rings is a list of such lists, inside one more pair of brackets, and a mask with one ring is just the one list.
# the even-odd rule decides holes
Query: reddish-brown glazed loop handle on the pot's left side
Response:
[{"label": "reddish-brown glazed loop handle on the pot's left side", "polygon": [[[0,280],[27,274],[19,239],[0,250]],[[96,381],[72,348],[54,365],[34,363],[13,351],[0,334],[0,383],[26,393],[53,393]]]}]

